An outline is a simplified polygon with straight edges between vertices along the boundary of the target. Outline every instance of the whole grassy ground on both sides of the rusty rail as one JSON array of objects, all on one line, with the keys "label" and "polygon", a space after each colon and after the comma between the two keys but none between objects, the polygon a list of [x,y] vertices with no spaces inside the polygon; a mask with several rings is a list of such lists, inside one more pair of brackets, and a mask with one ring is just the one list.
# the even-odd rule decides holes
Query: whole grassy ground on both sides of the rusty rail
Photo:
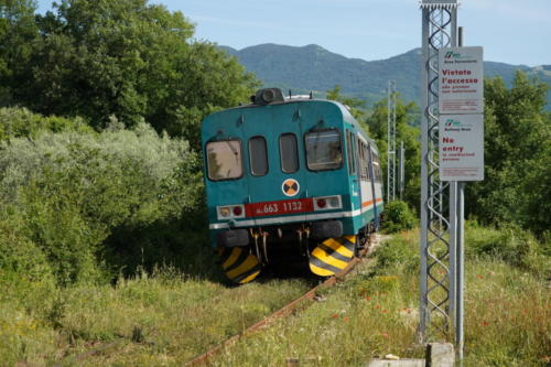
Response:
[{"label": "whole grassy ground on both sides of the rusty rail", "polygon": [[[360,366],[387,354],[422,357],[418,246],[415,230],[393,236],[371,265],[361,263],[344,282],[320,290],[318,301],[239,339],[210,365],[285,366],[298,359],[305,366]],[[541,244],[520,233],[469,226],[466,252],[464,366],[545,366],[551,296]],[[61,288],[35,279],[0,272],[1,365],[181,366],[311,285],[295,279],[227,287],[173,269],[116,285]]]}]

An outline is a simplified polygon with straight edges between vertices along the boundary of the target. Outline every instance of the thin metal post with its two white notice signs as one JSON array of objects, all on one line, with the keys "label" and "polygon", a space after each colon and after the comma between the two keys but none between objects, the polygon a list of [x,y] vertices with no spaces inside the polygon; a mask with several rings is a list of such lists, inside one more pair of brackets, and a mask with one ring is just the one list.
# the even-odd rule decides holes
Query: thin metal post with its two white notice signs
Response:
[{"label": "thin metal post with its two white notice signs", "polygon": [[440,50],[440,179],[450,181],[450,313],[460,360],[463,358],[464,182],[484,180],[483,63],[482,47]]}]

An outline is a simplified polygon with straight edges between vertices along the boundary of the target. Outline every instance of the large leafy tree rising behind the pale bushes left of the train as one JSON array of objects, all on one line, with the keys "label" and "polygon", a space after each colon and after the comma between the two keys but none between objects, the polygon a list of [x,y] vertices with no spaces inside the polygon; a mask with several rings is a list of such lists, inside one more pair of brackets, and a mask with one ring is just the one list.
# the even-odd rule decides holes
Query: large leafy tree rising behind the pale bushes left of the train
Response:
[{"label": "large leafy tree rising behind the pale bushes left of the train", "polygon": [[15,101],[44,115],[87,118],[104,128],[145,119],[196,147],[203,117],[236,106],[252,75],[214,44],[193,41],[181,12],[148,0],[62,0],[36,17],[25,83]]}]

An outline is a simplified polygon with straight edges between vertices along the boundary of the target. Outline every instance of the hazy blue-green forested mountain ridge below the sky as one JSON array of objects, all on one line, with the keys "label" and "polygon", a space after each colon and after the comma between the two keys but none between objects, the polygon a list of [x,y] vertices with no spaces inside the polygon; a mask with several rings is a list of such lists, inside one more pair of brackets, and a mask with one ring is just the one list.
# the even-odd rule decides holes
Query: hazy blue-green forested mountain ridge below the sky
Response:
[{"label": "hazy blue-green forested mountain ridge below the sky", "polygon": [[[236,56],[266,86],[281,87],[285,91],[292,89],[293,94],[314,90],[324,96],[326,90],[339,85],[343,94],[374,102],[386,96],[388,80],[396,79],[401,97],[420,105],[421,48],[370,62],[347,58],[315,44],[295,47],[267,43],[239,51],[228,46],[220,48]],[[551,85],[551,65],[529,67],[485,62],[484,68],[486,77],[499,75],[508,85],[517,69]],[[551,94],[548,95],[550,106]]]}]

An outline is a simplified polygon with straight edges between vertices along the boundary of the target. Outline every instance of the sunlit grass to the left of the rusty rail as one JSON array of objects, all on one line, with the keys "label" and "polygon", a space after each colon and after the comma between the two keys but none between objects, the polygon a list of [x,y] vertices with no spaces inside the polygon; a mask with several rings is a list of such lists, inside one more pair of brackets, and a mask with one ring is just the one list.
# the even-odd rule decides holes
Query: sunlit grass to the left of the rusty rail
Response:
[{"label": "sunlit grass to the left of the rusty rail", "polygon": [[[6,366],[182,365],[309,288],[301,280],[228,288],[170,271],[120,280],[116,287],[9,284],[0,303]],[[106,353],[75,358],[104,346],[109,346]]]}]

